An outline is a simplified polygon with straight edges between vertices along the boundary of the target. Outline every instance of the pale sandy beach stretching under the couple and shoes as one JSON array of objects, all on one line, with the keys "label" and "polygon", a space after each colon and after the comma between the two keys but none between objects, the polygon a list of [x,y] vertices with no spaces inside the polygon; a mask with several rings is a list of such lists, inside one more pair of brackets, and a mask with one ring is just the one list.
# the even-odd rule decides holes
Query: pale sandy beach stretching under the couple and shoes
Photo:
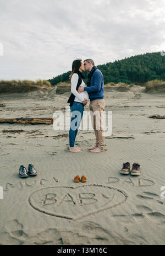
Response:
[{"label": "pale sandy beach stretching under the couple and shoes", "polygon": [[[93,131],[79,131],[76,145],[84,151],[71,153],[68,131],[0,125],[0,244],[165,244],[165,120],[147,118],[164,114],[164,94],[136,88],[106,90],[113,135],[102,153],[87,150],[95,144]],[[65,109],[69,94],[1,94],[0,115],[50,118]],[[139,177],[119,173],[127,161],[141,165]],[[20,165],[29,163],[38,175],[19,178]],[[74,183],[75,175],[87,182]]]}]

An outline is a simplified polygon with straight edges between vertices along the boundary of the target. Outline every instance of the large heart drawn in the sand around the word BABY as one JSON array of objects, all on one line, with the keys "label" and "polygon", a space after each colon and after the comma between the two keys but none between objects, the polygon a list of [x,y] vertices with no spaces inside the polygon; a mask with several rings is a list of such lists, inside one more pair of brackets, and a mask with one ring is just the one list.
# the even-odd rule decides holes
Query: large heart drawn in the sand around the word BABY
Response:
[{"label": "large heart drawn in the sand around the word BABY", "polygon": [[123,204],[128,195],[112,186],[52,186],[34,191],[29,204],[44,214],[77,220]]}]

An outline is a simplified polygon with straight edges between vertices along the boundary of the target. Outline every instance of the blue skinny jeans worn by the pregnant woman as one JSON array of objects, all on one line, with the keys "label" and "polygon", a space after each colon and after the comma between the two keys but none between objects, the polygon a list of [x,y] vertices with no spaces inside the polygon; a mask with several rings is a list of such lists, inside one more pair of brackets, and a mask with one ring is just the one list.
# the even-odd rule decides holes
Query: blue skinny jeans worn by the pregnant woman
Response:
[{"label": "blue skinny jeans worn by the pregnant woman", "polygon": [[78,134],[81,119],[83,118],[84,104],[80,102],[74,102],[73,105],[70,106],[70,110],[72,111],[72,115],[69,130],[69,146],[74,147],[75,138]]}]

